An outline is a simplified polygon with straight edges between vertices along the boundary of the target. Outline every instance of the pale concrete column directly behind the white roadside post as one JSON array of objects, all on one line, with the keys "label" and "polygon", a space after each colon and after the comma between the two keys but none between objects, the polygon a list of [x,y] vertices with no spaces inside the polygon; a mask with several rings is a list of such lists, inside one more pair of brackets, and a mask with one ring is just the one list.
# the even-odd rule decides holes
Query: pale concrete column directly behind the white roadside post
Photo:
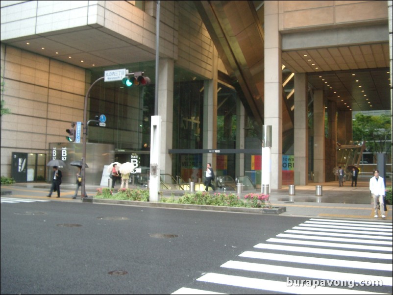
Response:
[{"label": "pale concrete column directly behind the white roadside post", "polygon": [[158,116],[161,117],[160,170],[172,174],[172,156],[168,150],[172,148],[173,126],[173,60],[160,59],[158,81]]}]

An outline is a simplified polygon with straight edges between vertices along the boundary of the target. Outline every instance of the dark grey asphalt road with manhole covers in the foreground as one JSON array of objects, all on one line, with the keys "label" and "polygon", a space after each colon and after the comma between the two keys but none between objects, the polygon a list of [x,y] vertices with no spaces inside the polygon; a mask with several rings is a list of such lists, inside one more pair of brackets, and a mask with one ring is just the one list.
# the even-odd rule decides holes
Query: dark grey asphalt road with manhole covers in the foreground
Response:
[{"label": "dark grey asphalt road with manhole covers in the foreground", "polygon": [[[285,239],[280,235],[310,222],[310,218],[55,201],[4,203],[0,208],[1,294],[201,294],[201,290],[226,294],[298,293],[288,287],[283,292],[288,274],[245,272],[221,266],[233,261],[263,263],[264,270],[283,267],[286,271],[289,267],[300,274],[305,271],[305,262],[301,260],[327,257],[344,265],[329,266],[322,262],[316,265],[310,261],[305,267],[311,271],[330,271],[336,278],[340,277],[338,269],[350,275],[356,272],[385,277],[385,285],[388,282],[390,286],[355,289],[333,286],[328,291],[331,293],[326,294],[392,293],[391,223],[360,223],[371,226],[370,230],[359,229],[364,231],[364,239],[339,244],[356,244],[365,249],[343,256],[309,249],[298,253],[285,247],[280,249],[285,242],[267,242],[270,238]],[[370,238],[382,226],[387,226],[385,232]],[[374,233],[370,234],[371,230]],[[306,241],[315,241],[314,236],[308,237]],[[299,245],[295,246],[306,243],[304,237],[297,241]],[[269,243],[273,245],[269,249],[255,248]],[[334,246],[328,248],[343,250],[338,242],[333,243],[336,244],[331,242]],[[376,245],[384,248],[374,248]],[[359,251],[366,256],[357,257]],[[255,252],[262,258],[245,254]],[[291,259],[273,259],[277,254],[289,255]],[[388,254],[389,258],[374,257],[379,254]],[[300,262],[294,262],[295,259]],[[349,266],[354,260],[360,266]],[[244,278],[251,285],[244,285]],[[312,287],[307,290],[313,294],[326,292]],[[306,293],[301,289],[299,294]]]}]

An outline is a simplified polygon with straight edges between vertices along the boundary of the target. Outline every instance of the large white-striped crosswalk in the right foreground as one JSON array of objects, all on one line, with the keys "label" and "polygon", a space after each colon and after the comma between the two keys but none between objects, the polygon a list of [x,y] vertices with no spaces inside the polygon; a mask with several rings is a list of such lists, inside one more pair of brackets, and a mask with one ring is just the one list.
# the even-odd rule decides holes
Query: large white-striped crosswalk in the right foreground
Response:
[{"label": "large white-striped crosswalk in the right foreground", "polygon": [[172,294],[392,294],[392,222],[312,218],[190,285]]}]

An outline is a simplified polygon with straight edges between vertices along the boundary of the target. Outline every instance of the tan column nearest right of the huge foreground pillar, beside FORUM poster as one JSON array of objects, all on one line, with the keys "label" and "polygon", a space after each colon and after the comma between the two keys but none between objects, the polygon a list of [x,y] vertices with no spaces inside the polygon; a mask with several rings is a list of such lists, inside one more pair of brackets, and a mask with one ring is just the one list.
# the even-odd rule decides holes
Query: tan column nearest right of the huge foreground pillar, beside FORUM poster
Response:
[{"label": "tan column nearest right of the huge foreground pillar, beside FORUM poster", "polygon": [[295,169],[294,182],[299,185],[308,184],[308,106],[307,76],[305,73],[295,74]]}]

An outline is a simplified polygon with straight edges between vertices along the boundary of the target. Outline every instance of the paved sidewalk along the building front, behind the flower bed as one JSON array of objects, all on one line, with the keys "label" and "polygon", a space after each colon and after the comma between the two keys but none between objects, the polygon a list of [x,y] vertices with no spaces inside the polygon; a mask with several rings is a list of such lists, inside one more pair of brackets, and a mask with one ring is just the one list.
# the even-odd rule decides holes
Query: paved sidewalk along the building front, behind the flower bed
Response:
[{"label": "paved sidewalk along the building front, behind the flower bed", "polygon": [[[316,196],[316,185],[322,186],[322,196]],[[388,183],[387,185],[391,185]],[[100,186],[86,186],[86,193],[89,196],[88,201],[92,201],[95,196],[97,188]],[[49,198],[46,195],[49,192],[50,185],[47,183],[18,183],[13,185],[1,186],[1,197],[15,197],[15,198],[35,198],[35,199],[50,199],[53,201],[72,201],[81,202],[78,197],[72,199],[74,195],[75,185],[63,184],[61,186],[60,198]],[[130,187],[136,188],[136,187]],[[138,187],[140,189],[140,187]],[[79,191],[80,192],[80,191]],[[216,191],[221,192],[221,191]],[[244,196],[246,193],[241,195]],[[260,191],[253,191],[260,192]],[[185,191],[162,191],[162,196],[181,196]],[[227,192],[234,193],[236,192]],[[113,201],[111,202],[113,203]],[[118,202],[121,204],[122,202]],[[147,202],[141,202],[147,203]],[[141,204],[139,203],[139,205]],[[286,207],[286,212],[280,216],[301,216],[301,217],[326,217],[326,218],[348,218],[348,219],[364,219],[375,221],[392,221],[392,206],[388,205],[388,212],[386,218],[374,219],[374,212],[372,210],[370,193],[368,190],[368,183],[359,183],[357,187],[351,187],[350,184],[344,183],[343,187],[339,187],[337,183],[323,183],[310,184],[307,186],[295,186],[295,195],[289,195],[288,186],[283,186],[280,190],[272,190],[270,192],[270,203],[274,207]],[[152,203],[147,205],[153,205]],[[179,208],[179,204],[174,204],[173,208]],[[186,205],[184,205],[186,206]],[[166,203],[166,207],[170,207]],[[231,207],[225,207],[231,211]],[[233,210],[235,211],[235,210]],[[236,210],[238,211],[238,210]]]}]

